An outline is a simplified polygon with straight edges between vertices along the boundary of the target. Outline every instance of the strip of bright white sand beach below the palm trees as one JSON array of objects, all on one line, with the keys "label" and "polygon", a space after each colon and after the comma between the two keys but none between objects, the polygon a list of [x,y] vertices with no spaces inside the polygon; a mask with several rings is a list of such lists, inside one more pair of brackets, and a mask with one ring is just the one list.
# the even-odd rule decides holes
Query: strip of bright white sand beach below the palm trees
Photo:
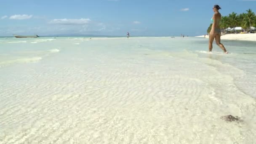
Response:
[{"label": "strip of bright white sand beach below the palm trees", "polygon": [[[196,37],[209,38],[208,35],[200,35]],[[221,40],[248,40],[256,41],[256,33],[254,34],[226,34],[221,36]]]}]

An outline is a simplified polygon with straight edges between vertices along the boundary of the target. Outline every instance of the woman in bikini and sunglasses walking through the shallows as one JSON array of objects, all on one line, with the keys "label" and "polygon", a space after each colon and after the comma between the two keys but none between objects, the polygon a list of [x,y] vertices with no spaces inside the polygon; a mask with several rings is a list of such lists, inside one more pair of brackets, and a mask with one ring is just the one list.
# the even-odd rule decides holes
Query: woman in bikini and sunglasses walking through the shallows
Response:
[{"label": "woman in bikini and sunglasses walking through the shallows", "polygon": [[219,21],[221,20],[221,13],[219,13],[219,5],[213,6],[213,17],[211,18],[212,27],[211,32],[209,33],[209,52],[213,49],[213,40],[215,38],[216,44],[224,51],[224,53],[228,53],[223,44],[221,44],[221,29],[219,27]]}]

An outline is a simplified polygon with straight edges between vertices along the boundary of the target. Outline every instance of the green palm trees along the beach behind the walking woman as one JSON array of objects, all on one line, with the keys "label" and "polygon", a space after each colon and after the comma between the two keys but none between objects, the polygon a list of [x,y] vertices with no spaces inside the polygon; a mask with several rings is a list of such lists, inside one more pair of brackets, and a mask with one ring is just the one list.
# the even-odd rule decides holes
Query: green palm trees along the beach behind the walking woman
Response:
[{"label": "green palm trees along the beach behind the walking woman", "polygon": [[[221,31],[224,32],[225,29],[228,27],[235,28],[235,27],[242,27],[245,29],[245,31],[248,31],[251,29],[251,27],[256,27],[256,15],[255,13],[251,10],[248,9],[246,10],[247,13],[240,13],[237,14],[235,12],[229,13],[228,16],[221,16],[221,21],[220,21],[220,28]],[[210,33],[211,31],[211,26],[207,29],[207,33]],[[235,30],[235,29],[234,29]]]}]

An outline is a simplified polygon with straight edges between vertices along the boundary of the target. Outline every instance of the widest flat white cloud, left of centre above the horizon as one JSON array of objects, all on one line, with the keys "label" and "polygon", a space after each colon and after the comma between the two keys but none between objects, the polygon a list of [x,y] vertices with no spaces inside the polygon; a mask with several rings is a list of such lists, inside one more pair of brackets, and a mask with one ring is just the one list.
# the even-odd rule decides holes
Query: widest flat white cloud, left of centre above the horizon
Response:
[{"label": "widest flat white cloud, left of centre above the horizon", "polygon": [[90,21],[91,19],[53,19],[49,23],[72,25],[72,24],[88,24]]}]

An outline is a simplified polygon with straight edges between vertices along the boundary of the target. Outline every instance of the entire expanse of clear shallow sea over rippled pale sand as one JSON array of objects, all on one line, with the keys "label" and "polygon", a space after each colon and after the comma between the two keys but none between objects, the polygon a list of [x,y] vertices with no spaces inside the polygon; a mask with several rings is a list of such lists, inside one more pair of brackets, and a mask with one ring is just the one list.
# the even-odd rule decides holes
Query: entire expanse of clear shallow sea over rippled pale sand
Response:
[{"label": "entire expanse of clear shallow sea over rippled pale sand", "polygon": [[253,144],[256,42],[221,43],[0,38],[0,144]]}]

